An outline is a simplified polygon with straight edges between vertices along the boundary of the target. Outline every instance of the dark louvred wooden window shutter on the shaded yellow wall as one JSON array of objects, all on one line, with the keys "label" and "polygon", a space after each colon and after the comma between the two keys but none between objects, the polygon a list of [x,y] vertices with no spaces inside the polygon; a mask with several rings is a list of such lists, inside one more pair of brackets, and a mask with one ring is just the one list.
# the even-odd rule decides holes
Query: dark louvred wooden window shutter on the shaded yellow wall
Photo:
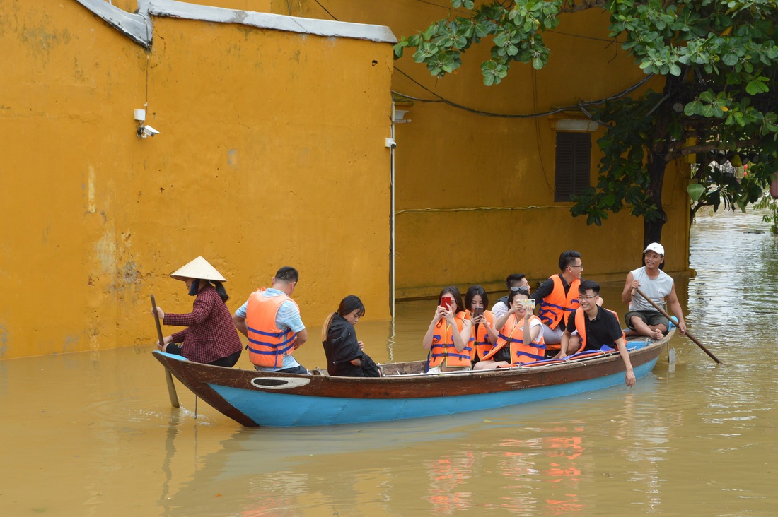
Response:
[{"label": "dark louvred wooden window shutter on the shaded yellow wall", "polygon": [[590,186],[591,133],[557,133],[554,201],[570,201]]}]

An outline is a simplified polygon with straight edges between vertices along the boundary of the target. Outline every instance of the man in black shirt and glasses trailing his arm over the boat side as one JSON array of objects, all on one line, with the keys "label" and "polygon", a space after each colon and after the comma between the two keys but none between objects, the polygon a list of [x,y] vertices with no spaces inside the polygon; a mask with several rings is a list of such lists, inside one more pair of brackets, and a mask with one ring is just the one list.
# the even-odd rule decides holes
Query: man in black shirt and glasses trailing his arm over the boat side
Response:
[{"label": "man in black shirt and glasses trailing his arm over the boat side", "polygon": [[627,386],[635,386],[635,372],[632,362],[629,361],[619,318],[608,309],[597,305],[600,285],[595,281],[585,280],[580,283],[578,292],[580,308],[567,320],[567,327],[562,333],[560,358],[567,357],[570,336],[577,330],[582,345],[581,351],[600,350],[603,346],[618,349],[626,367],[625,383]]}]

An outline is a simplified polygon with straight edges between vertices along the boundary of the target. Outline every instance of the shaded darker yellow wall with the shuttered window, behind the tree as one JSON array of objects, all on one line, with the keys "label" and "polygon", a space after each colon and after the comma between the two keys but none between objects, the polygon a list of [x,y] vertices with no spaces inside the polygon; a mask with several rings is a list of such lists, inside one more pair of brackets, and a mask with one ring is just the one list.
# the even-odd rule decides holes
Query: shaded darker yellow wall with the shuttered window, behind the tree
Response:
[{"label": "shaded darker yellow wall with the shuttered window, behind the tree", "polygon": [[[452,12],[448,0],[397,0],[391,9],[329,0],[324,4],[329,14],[313,0],[293,5],[296,16],[377,23],[398,37],[424,30]],[[286,14],[286,7],[273,4],[275,12]],[[463,67],[443,79],[430,77],[408,52],[395,61],[392,89],[426,100],[436,100],[437,94],[499,114],[534,114],[605,98],[645,77],[619,44],[604,39],[607,25],[607,16],[597,9],[562,16],[559,31],[544,34],[552,51],[548,65],[534,72],[529,65],[514,64],[499,86],[482,82],[479,67],[489,55],[487,41],[472,47]],[[648,86],[661,89],[660,82]],[[485,117],[444,103],[415,102],[398,109],[409,110],[405,118],[412,120],[395,129],[398,297],[436,294],[448,284],[503,288],[506,274],[513,272],[547,278],[559,271],[559,253],[568,249],[583,253],[586,278],[622,280],[626,271],[640,266],[642,218],[627,209],[610,215],[601,227],[587,226],[585,218],[570,215],[572,203],[553,201],[555,132],[548,117]],[[592,184],[597,183],[601,134],[592,135]],[[670,220],[662,238],[668,249],[666,271],[688,268],[686,182],[671,171],[664,183]]]}]

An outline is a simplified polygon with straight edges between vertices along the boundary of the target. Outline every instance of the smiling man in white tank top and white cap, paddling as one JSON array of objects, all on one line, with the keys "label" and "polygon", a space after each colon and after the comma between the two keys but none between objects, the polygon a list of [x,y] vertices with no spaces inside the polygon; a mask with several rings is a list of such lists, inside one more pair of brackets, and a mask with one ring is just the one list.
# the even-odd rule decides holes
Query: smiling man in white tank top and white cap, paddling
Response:
[{"label": "smiling man in white tank top and white cap, paddling", "polygon": [[681,303],[675,295],[675,282],[669,274],[659,269],[664,262],[664,246],[660,243],[650,243],[643,250],[643,262],[646,264],[644,267],[638,267],[627,274],[627,281],[622,291],[622,302],[629,303],[629,311],[624,316],[624,322],[637,334],[657,340],[661,339],[670,327],[668,319],[654,309],[647,299],[637,292],[633,296],[633,290],[640,288],[644,295],[657,306],[662,307],[665,312],[669,305],[672,313],[678,318],[678,331],[681,335],[686,334]]}]

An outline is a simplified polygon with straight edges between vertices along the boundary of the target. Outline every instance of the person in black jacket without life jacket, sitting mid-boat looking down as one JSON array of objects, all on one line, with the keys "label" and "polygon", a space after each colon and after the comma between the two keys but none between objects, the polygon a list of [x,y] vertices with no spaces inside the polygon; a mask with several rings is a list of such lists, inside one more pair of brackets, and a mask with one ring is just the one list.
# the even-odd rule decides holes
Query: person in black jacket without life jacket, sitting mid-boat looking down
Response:
[{"label": "person in black jacket without life jacket, sitting mid-boat looking down", "polygon": [[331,313],[321,326],[321,344],[327,356],[327,372],[339,377],[380,377],[373,359],[357,341],[354,325],[364,316],[365,306],[355,295],[342,299],[338,311]]}]

